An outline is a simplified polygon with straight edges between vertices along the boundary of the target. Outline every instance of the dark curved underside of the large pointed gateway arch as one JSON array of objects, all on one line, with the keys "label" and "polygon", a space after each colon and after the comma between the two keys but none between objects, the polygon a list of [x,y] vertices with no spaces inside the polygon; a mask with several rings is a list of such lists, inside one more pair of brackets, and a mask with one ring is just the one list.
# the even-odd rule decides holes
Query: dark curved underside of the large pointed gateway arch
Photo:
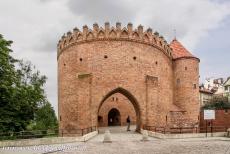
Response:
[{"label": "dark curved underside of the large pointed gateway arch", "polygon": [[[103,103],[110,97],[112,96],[113,94],[116,94],[116,93],[120,93],[122,95],[124,95],[128,100],[129,102],[133,105],[134,107],[134,110],[135,110],[135,114],[136,114],[136,131],[140,131],[140,128],[141,128],[141,112],[140,112],[140,106],[139,106],[139,103],[137,101],[137,99],[126,89],[124,88],[121,88],[121,87],[118,87],[110,92],[108,92],[104,97],[103,99],[101,100],[100,104],[99,104],[99,107],[98,107],[98,115],[99,115],[99,111],[100,111],[100,108],[101,106],[103,105]],[[119,112],[119,111],[118,111]],[[109,119],[108,119],[109,120]]]}]

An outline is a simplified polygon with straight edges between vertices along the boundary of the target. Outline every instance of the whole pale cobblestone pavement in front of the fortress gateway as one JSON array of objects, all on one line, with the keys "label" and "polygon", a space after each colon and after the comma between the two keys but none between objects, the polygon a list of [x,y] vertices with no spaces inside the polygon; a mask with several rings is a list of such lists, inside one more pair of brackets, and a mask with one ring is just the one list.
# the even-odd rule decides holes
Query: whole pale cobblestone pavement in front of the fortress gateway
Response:
[{"label": "whole pale cobblestone pavement in front of the fortress gateway", "polygon": [[111,133],[112,143],[103,143],[104,134],[88,142],[0,149],[0,153],[56,154],[230,154],[230,138],[156,139],[142,142],[135,132]]}]

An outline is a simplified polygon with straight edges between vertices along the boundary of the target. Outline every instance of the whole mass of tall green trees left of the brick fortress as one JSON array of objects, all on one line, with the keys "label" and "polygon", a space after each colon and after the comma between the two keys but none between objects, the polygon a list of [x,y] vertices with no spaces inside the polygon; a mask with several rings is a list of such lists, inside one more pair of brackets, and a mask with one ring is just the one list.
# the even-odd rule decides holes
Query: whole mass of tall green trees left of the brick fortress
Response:
[{"label": "whole mass of tall green trees left of the brick fortress", "polygon": [[46,76],[30,62],[13,58],[11,44],[0,35],[0,132],[25,130],[41,106],[50,106],[43,89]]}]

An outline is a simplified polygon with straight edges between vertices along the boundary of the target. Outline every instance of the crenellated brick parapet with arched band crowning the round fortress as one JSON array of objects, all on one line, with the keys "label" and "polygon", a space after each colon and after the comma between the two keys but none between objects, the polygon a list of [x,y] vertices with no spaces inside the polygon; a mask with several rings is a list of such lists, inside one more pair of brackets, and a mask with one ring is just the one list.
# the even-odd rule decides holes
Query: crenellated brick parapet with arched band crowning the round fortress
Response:
[{"label": "crenellated brick parapet with arched band crowning the round fortress", "polygon": [[93,24],[93,30],[89,29],[87,25],[83,26],[82,32],[78,28],[74,28],[73,32],[67,32],[59,40],[57,49],[57,56],[70,46],[87,43],[91,41],[132,41],[137,43],[148,44],[163,51],[169,58],[172,58],[172,49],[163,36],[159,36],[158,32],[153,33],[151,28],[146,31],[143,26],[139,25],[137,29],[133,30],[133,25],[128,23],[127,27],[121,28],[121,23],[117,22],[116,27],[110,27],[108,22],[105,27],[99,27],[97,23]]}]

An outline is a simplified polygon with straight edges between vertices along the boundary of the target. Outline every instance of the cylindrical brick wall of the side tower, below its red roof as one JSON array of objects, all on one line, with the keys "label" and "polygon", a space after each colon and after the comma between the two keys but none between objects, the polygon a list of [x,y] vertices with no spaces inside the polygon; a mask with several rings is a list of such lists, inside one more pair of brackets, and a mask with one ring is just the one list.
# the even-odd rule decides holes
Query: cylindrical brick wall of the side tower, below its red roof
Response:
[{"label": "cylindrical brick wall of the side tower, below its red roof", "polygon": [[[198,125],[199,62],[195,58],[174,61],[174,103],[184,112],[185,125]],[[178,81],[179,80],[179,81]]]}]

